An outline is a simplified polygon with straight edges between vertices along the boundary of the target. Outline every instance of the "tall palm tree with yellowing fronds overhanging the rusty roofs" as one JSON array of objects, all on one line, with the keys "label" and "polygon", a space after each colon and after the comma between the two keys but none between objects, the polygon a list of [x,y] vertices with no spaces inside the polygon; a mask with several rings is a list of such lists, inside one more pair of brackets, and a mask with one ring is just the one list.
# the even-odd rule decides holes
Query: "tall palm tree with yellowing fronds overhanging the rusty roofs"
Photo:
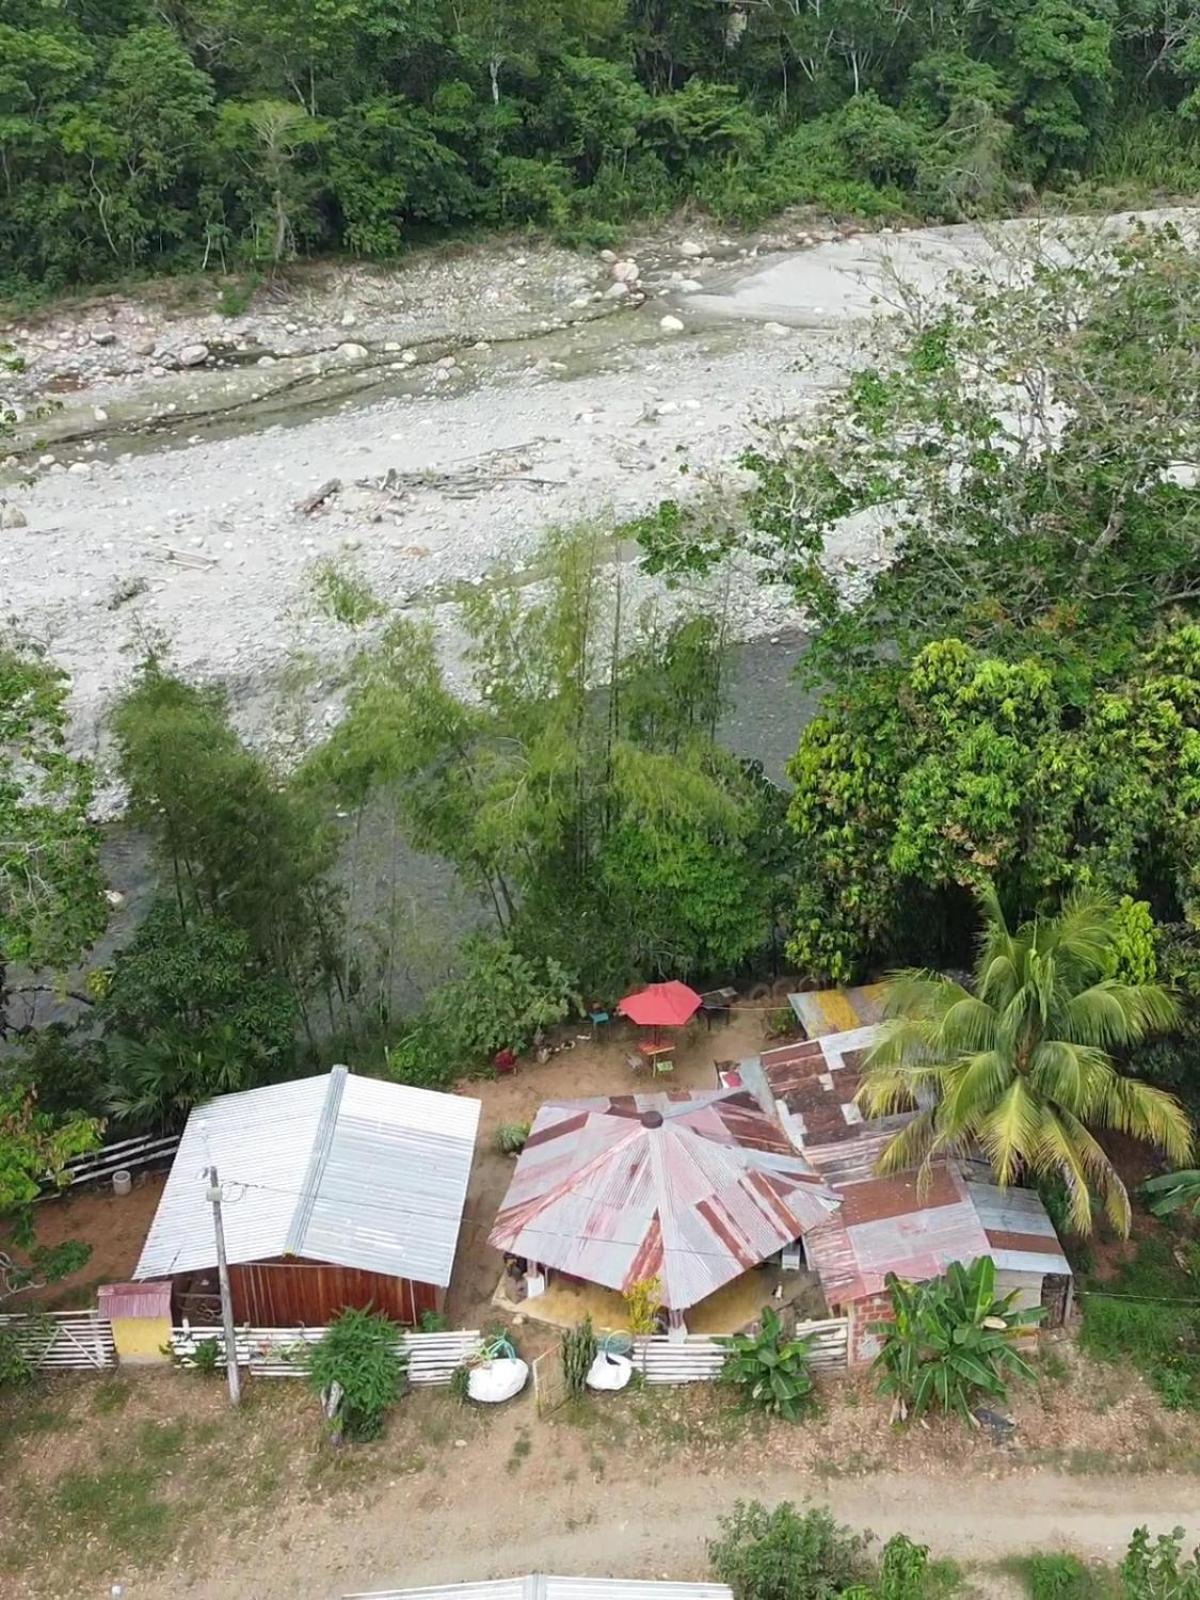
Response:
[{"label": "tall palm tree with yellowing fronds overhanging the rusty roofs", "polygon": [[882,1173],[982,1149],[995,1181],[1061,1178],[1070,1226],[1091,1232],[1098,1194],[1114,1227],[1130,1230],[1130,1197],[1091,1128],[1162,1146],[1181,1165],[1192,1149],[1182,1106],[1122,1077],[1109,1050],[1168,1029],[1171,995],[1109,976],[1109,902],[1072,896],[1058,917],[1010,933],[994,890],[979,896],[984,930],[974,984],[898,973],[891,1021],[867,1056],[858,1102],[869,1117],[914,1110],[880,1157]]}]

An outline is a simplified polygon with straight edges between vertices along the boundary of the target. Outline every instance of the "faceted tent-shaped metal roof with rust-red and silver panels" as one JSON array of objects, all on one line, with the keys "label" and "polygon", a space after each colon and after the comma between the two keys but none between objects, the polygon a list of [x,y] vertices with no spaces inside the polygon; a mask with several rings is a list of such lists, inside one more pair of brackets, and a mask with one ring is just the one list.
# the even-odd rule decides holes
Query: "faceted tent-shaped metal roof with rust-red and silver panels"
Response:
[{"label": "faceted tent-shaped metal roof with rust-red and silver panels", "polygon": [[739,1090],[550,1101],[490,1242],[618,1291],[658,1277],[662,1302],[685,1310],[835,1205]]}]

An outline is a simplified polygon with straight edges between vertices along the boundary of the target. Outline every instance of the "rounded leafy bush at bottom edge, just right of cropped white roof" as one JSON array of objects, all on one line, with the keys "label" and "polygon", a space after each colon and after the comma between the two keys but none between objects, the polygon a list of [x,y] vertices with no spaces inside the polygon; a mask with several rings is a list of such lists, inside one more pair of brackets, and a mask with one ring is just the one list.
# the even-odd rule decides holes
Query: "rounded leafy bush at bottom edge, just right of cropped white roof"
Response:
[{"label": "rounded leafy bush at bottom edge, just right of cropped white roof", "polygon": [[766,1510],[738,1501],[709,1541],[709,1565],[734,1600],[832,1600],[867,1574],[866,1538],[824,1509],[798,1512],[790,1501]]}]

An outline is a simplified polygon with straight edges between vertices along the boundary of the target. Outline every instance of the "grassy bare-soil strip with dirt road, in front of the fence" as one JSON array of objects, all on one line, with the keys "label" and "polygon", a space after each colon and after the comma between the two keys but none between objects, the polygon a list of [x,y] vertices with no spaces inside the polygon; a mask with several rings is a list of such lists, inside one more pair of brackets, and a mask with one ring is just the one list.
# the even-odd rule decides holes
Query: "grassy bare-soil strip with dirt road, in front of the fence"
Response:
[{"label": "grassy bare-soil strip with dirt road, in front of the fence", "polygon": [[1200,1419],[1069,1346],[1014,1395],[997,1446],[958,1424],[896,1432],[864,1381],[810,1422],[765,1426],[718,1389],[595,1397],[538,1419],[406,1397],[376,1445],[334,1453],[298,1381],[162,1373],[0,1400],[0,1592],[66,1600],[317,1600],[566,1571],[704,1574],[738,1498],[827,1502],[984,1571],[1046,1546],[1112,1558],[1141,1522],[1200,1538]]}]

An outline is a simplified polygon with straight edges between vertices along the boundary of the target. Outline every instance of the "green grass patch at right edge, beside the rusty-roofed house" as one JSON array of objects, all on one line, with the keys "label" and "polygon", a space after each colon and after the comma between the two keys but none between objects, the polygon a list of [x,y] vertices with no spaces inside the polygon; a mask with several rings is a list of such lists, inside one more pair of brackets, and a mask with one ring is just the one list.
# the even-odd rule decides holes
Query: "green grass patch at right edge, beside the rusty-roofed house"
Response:
[{"label": "green grass patch at right edge, beside the rusty-roofed house", "polygon": [[1200,1411],[1200,1282],[1179,1258],[1190,1264],[1184,1242],[1163,1230],[1109,1282],[1088,1280],[1080,1346],[1101,1362],[1131,1362],[1168,1410]]}]

